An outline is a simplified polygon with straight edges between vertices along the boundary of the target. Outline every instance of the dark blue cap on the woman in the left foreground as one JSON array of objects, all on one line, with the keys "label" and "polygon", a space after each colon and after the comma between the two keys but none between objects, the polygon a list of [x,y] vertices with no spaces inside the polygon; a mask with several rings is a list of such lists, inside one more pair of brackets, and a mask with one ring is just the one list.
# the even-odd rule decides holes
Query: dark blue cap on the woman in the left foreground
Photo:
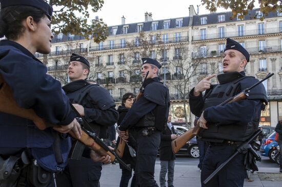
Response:
[{"label": "dark blue cap on the woman in the left foreground", "polygon": [[50,20],[53,13],[53,8],[43,0],[0,0],[0,3],[1,9],[18,5],[35,7],[39,10],[44,11]]}]

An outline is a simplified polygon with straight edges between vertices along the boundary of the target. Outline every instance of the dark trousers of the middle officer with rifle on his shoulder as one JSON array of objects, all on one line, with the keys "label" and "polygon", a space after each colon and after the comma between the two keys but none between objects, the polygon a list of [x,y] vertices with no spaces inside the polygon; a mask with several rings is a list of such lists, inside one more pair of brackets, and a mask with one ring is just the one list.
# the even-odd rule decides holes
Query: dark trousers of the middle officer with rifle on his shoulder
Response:
[{"label": "dark trousers of the middle officer with rifle on his shoulder", "polygon": [[142,130],[137,131],[136,143],[136,181],[137,186],[158,186],[154,179],[157,150],[160,144],[160,131],[143,136]]}]

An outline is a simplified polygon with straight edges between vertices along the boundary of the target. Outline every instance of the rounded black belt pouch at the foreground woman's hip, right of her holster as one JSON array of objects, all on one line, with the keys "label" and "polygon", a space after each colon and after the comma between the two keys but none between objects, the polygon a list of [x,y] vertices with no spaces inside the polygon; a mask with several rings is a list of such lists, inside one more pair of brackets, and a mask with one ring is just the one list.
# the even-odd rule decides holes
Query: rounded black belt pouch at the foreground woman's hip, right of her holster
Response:
[{"label": "rounded black belt pouch at the foreground woman's hip, right of her holster", "polygon": [[36,187],[46,187],[53,178],[52,175],[51,172],[38,166],[34,160],[28,167],[27,179],[30,184]]}]

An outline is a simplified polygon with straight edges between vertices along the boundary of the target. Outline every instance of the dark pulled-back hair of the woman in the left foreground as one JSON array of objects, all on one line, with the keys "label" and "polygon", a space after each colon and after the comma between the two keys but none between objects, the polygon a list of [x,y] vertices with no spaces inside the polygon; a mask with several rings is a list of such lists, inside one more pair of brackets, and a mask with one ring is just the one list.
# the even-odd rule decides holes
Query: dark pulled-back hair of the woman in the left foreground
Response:
[{"label": "dark pulled-back hair of the woman in the left foreground", "polygon": [[46,16],[44,11],[30,6],[10,6],[0,12],[0,37],[18,39],[25,31],[22,22],[28,16],[38,23]]}]

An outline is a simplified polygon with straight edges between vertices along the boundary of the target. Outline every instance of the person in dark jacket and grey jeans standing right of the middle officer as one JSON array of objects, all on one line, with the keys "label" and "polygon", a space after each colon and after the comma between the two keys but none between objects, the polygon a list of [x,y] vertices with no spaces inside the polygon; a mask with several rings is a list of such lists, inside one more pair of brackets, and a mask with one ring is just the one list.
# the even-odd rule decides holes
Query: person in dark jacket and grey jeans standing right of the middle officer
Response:
[{"label": "person in dark jacket and grey jeans standing right of the middle officer", "polygon": [[168,116],[168,122],[165,130],[160,134],[159,146],[159,184],[160,187],[166,187],[166,174],[168,173],[168,187],[173,187],[175,155],[172,152],[171,142],[177,138],[174,127],[171,123],[171,115]]}]

